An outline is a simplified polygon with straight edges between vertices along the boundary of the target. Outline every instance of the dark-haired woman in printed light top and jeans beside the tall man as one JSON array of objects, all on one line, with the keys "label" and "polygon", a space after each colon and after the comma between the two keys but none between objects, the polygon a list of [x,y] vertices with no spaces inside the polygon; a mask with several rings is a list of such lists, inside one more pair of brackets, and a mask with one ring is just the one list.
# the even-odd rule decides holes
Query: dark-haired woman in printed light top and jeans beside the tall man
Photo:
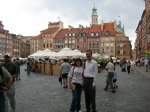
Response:
[{"label": "dark-haired woman in printed light top and jeans beside the tall man", "polygon": [[70,112],[80,112],[81,93],[83,85],[83,67],[82,60],[76,59],[68,74],[68,87],[72,89],[72,102]]}]

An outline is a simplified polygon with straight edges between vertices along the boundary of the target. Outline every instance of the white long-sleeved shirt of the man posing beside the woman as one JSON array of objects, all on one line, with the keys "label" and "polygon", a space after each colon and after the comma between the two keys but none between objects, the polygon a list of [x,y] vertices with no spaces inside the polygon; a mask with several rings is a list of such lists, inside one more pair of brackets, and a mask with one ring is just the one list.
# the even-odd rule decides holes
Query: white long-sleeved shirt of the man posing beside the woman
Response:
[{"label": "white long-sleeved shirt of the man posing beside the woman", "polygon": [[91,61],[86,61],[84,69],[84,77],[94,78],[93,85],[95,85],[97,74],[98,74],[97,62],[94,61],[93,59]]}]

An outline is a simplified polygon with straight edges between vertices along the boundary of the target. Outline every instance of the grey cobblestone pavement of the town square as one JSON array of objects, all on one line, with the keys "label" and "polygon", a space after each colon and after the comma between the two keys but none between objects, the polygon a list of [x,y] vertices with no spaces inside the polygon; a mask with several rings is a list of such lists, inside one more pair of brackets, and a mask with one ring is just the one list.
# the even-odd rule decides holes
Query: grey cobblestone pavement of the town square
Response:
[{"label": "grey cobblestone pavement of the town square", "polygon": [[[71,90],[63,89],[58,77],[31,73],[27,76],[21,67],[21,81],[16,82],[16,112],[69,112]],[[135,69],[134,74],[118,74],[116,93],[106,92],[106,72],[98,75],[96,104],[98,112],[150,112],[150,78]],[[148,72],[150,73],[150,72]],[[150,74],[147,74],[150,75]],[[82,112],[84,112],[82,94]]]}]

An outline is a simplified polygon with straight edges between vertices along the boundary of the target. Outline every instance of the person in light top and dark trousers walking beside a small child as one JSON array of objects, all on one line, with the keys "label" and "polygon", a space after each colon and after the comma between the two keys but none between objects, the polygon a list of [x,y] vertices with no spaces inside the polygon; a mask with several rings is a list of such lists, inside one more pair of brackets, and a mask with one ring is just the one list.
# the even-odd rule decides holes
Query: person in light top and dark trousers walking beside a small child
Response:
[{"label": "person in light top and dark trousers walking beside a small child", "polygon": [[106,65],[106,70],[108,71],[108,74],[107,74],[107,79],[106,79],[106,86],[104,88],[105,91],[108,91],[108,87],[110,85],[111,89],[112,89],[112,93],[115,93],[115,88],[113,86],[113,83],[112,83],[112,78],[114,76],[114,64],[113,64],[113,60],[112,58],[110,58],[109,62],[107,63]]}]

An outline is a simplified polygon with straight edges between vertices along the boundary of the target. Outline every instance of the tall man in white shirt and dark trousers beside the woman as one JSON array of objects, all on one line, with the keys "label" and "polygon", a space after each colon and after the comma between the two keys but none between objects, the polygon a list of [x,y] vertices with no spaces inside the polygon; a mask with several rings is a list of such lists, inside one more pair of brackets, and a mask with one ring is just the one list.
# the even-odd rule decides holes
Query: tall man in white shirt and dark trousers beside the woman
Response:
[{"label": "tall man in white shirt and dark trousers beside the woman", "polygon": [[92,51],[86,51],[87,61],[84,65],[83,88],[85,94],[86,112],[96,112],[96,77],[98,74],[97,62],[92,59]]}]

